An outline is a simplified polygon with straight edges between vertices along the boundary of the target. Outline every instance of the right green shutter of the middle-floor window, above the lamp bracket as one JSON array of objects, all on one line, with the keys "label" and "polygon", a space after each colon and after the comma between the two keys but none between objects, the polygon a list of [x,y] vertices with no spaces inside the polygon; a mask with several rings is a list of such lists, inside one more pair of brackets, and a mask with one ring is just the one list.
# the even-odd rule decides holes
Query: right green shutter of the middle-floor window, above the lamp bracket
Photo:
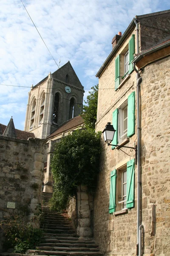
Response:
[{"label": "right green shutter of the middle-floor window, above the lamp bracket", "polygon": [[127,100],[127,137],[135,134],[135,92]]}]

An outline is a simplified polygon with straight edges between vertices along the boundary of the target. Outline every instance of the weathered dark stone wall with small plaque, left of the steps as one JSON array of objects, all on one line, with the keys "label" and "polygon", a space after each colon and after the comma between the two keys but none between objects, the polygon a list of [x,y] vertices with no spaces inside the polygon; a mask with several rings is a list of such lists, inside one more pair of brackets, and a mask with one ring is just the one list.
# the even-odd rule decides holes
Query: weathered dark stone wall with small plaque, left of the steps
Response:
[{"label": "weathered dark stone wall with small plaque, left of the steps", "polygon": [[[0,136],[0,221],[10,214],[22,214],[27,220],[34,217],[42,200],[45,142]],[[15,203],[15,209],[7,208],[7,202]]]}]

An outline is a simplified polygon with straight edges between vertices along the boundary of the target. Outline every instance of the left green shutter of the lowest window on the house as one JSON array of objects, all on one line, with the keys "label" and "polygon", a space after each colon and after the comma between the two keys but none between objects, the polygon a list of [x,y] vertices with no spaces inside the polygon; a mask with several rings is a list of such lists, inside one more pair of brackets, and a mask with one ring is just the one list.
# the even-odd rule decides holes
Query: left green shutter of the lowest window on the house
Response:
[{"label": "left green shutter of the lowest window on the house", "polygon": [[115,209],[116,209],[116,169],[114,169],[111,172],[109,213],[115,212]]}]

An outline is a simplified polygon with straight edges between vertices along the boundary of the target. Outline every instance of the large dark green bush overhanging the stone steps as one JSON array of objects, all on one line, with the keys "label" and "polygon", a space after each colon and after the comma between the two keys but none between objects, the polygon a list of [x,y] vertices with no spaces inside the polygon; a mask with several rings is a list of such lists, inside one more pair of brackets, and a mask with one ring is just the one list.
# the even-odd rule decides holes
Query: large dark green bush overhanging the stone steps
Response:
[{"label": "large dark green bush overhanging the stone steps", "polygon": [[51,161],[55,182],[52,209],[64,209],[68,197],[76,195],[80,184],[94,190],[99,172],[100,137],[100,132],[76,130],[56,143]]}]

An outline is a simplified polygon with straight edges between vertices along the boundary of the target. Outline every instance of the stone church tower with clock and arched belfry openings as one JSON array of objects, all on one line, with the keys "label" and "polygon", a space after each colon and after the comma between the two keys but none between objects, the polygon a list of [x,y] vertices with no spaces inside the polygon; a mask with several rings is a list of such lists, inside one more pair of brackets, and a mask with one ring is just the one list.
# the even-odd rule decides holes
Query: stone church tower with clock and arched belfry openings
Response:
[{"label": "stone church tower with clock and arched belfry openings", "polygon": [[63,122],[82,111],[83,86],[70,61],[49,73],[28,93],[24,131],[45,139]]}]

